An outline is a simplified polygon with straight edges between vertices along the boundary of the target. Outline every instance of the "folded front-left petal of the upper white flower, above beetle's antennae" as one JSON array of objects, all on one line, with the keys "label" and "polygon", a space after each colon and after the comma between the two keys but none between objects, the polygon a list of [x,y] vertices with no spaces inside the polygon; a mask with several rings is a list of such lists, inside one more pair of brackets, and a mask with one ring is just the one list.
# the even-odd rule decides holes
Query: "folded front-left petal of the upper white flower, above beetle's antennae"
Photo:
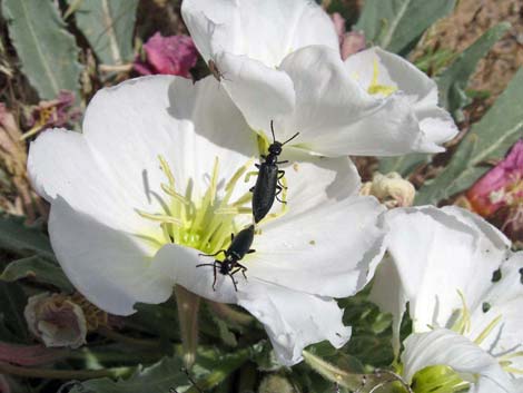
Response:
[{"label": "folded front-left petal of the upper white flower, above beetle's antennae", "polygon": [[263,129],[276,116],[294,109],[293,81],[276,70],[246,56],[220,52],[216,63],[223,86],[253,129]]}]

